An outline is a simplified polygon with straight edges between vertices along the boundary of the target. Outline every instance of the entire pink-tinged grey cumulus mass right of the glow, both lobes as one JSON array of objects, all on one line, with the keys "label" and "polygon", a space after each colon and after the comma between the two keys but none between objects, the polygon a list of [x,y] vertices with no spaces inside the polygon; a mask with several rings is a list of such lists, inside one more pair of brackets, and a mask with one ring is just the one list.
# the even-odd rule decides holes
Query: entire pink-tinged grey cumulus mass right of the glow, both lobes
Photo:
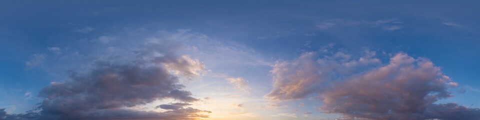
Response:
[{"label": "entire pink-tinged grey cumulus mass right of the glow, both lobes", "polygon": [[[272,100],[302,99],[322,102],[319,110],[349,118],[370,119],[478,119],[480,111],[455,103],[435,104],[451,97],[455,86],[426,58],[396,53],[380,63],[375,53],[359,58],[340,52],[305,52],[291,61],[279,61],[270,71]],[[443,110],[440,110],[443,109]],[[462,114],[462,115],[457,115]]]}]

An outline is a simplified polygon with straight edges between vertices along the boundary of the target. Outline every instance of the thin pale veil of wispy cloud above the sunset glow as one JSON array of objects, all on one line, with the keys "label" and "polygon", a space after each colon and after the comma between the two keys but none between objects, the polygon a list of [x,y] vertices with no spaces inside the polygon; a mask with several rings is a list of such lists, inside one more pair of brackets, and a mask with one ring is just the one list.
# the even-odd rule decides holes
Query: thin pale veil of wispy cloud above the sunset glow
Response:
[{"label": "thin pale veil of wispy cloud above the sunset glow", "polygon": [[[160,34],[172,34],[168,31],[159,31]],[[231,40],[218,40],[205,34],[191,32],[188,29],[180,29],[178,32],[168,35],[185,43],[185,50],[192,56],[201,57],[209,67],[228,66],[262,66],[271,63],[265,60],[253,48]],[[152,41],[157,40],[152,38]],[[222,59],[222,60],[218,60]],[[234,68],[231,68],[234,69]]]}]

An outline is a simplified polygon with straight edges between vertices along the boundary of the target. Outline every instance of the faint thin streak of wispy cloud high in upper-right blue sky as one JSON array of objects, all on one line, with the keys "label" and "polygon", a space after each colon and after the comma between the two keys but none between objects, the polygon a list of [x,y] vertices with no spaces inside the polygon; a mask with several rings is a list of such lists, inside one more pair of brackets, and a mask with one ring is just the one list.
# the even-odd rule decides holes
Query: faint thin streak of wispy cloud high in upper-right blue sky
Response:
[{"label": "faint thin streak of wispy cloud high in upper-right blue sky", "polygon": [[403,27],[403,22],[397,19],[378,19],[375,21],[368,20],[348,20],[348,19],[326,19],[317,21],[315,26],[319,29],[331,29],[345,26],[369,26],[369,27],[379,27],[386,31],[393,31],[401,29]]}]

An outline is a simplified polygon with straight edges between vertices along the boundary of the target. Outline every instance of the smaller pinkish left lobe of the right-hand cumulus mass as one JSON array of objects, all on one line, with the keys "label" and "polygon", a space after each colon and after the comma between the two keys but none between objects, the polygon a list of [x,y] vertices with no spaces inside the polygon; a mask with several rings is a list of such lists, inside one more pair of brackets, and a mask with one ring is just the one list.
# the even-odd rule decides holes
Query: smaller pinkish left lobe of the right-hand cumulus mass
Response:
[{"label": "smaller pinkish left lobe of the right-hand cumulus mass", "polygon": [[323,81],[330,78],[330,73],[346,73],[368,64],[379,63],[372,58],[374,52],[365,51],[365,56],[350,59],[343,52],[335,52],[332,56],[315,59],[316,52],[302,53],[292,61],[277,61],[270,70],[273,77],[273,89],[265,95],[269,99],[300,99],[321,90]]}]

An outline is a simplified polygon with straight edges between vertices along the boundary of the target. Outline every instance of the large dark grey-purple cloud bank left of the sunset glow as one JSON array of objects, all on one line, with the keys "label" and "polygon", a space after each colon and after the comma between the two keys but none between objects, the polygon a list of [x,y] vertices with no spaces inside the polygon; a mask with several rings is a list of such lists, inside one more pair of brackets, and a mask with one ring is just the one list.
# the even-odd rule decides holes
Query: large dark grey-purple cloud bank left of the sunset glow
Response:
[{"label": "large dark grey-purple cloud bank left of the sunset glow", "polygon": [[[210,111],[187,107],[199,99],[184,90],[182,78],[202,75],[198,59],[181,55],[180,44],[172,40],[130,44],[82,60],[82,67],[69,70],[68,79],[51,82],[38,96],[39,105],[11,117],[27,119],[194,119]],[[135,47],[132,47],[135,46]],[[36,57],[42,55],[36,55]],[[36,58],[35,57],[35,58]],[[38,58],[37,58],[38,59]],[[33,64],[38,60],[27,62]],[[192,79],[189,79],[192,80]],[[136,106],[157,100],[181,103],[161,104],[162,112],[137,110]]]}]

